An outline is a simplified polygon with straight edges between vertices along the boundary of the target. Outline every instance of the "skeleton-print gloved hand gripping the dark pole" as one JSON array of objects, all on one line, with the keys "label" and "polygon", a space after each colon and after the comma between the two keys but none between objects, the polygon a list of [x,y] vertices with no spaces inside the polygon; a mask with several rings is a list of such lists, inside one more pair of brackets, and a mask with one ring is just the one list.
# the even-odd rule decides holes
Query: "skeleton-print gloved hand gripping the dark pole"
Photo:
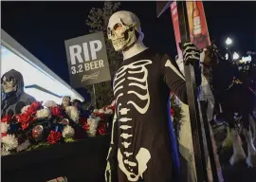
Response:
[{"label": "skeleton-print gloved hand gripping the dark pole", "polygon": [[180,48],[183,52],[183,61],[185,64],[199,63],[200,50],[192,43],[180,44]]}]

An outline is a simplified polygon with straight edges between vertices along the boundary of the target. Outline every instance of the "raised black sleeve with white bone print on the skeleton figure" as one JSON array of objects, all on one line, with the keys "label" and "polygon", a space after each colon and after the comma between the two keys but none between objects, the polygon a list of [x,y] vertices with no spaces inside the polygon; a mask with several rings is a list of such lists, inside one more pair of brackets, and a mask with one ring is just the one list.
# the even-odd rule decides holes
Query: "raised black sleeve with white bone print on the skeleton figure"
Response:
[{"label": "raised black sleeve with white bone print on the skeleton figure", "polygon": [[174,92],[179,100],[188,104],[185,78],[179,70],[177,64],[168,56],[161,59],[161,72],[163,81]]}]

